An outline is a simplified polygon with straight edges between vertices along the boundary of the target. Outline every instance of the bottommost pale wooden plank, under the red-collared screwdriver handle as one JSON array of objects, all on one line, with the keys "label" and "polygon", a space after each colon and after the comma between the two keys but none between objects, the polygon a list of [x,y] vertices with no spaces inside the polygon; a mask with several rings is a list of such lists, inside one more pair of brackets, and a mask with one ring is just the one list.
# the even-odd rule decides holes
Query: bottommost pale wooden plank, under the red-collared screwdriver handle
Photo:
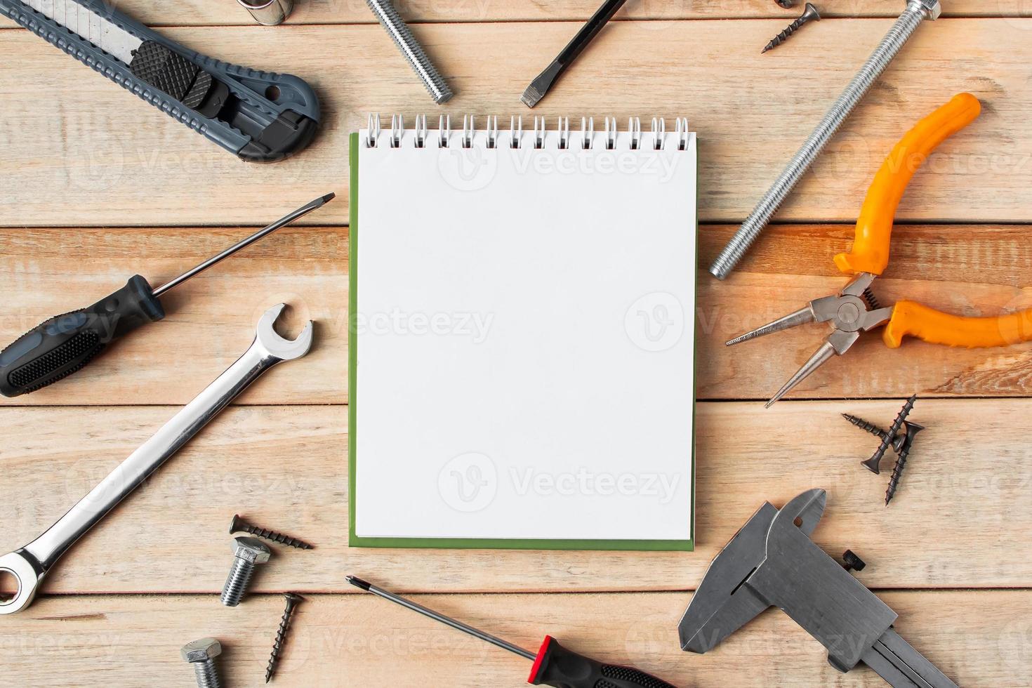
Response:
[{"label": "bottommost pale wooden plank, under the red-collared screwdriver handle", "polygon": [[[962,686],[1028,685],[1032,594],[925,591],[883,593],[897,631]],[[678,686],[885,685],[861,666],[838,674],[823,648],[787,616],[769,610],[705,655],[681,652],[684,593],[419,595],[531,651],[546,633],[571,649],[635,661]],[[263,685],[283,599],[263,595],[227,612],[214,596],[46,598],[21,618],[9,685],[193,685],[180,658],[183,638],[224,640],[226,684]],[[155,619],[161,619],[160,625]],[[963,630],[961,630],[961,626]],[[13,652],[12,652],[13,651]],[[146,671],[142,670],[146,667]],[[292,686],[490,686],[518,688],[530,663],[372,595],[314,595],[298,608],[276,684]]]}]

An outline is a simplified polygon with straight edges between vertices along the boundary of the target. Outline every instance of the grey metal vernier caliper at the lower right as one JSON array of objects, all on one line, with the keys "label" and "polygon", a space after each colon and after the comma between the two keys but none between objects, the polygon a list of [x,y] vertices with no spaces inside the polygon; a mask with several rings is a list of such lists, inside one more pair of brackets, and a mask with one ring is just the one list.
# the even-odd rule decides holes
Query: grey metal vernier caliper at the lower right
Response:
[{"label": "grey metal vernier caliper at the lower right", "polygon": [[768,607],[828,648],[840,671],[864,662],[893,688],[957,688],[893,629],[897,614],[810,539],[828,494],[781,510],[765,502],[713,559],[678,625],[681,649],[705,653]]}]

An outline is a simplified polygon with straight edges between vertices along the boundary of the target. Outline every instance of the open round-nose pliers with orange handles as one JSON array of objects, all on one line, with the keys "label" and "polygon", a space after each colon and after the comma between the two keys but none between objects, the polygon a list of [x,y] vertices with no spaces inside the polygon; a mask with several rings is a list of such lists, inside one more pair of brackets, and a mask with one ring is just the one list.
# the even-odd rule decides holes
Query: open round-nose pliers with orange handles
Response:
[{"label": "open round-nose pliers with orange handles", "polygon": [[875,277],[889,265],[893,221],[910,178],[932,151],[974,122],[980,112],[978,99],[962,93],[918,122],[892,150],[868,189],[852,251],[835,256],[838,268],[852,275],[838,294],[810,301],[796,313],[727,342],[730,347],[806,323],[831,324],[831,334],[767,402],[768,408],[833,356],[847,352],[861,332],[882,325],[888,325],[881,338],[890,349],[899,348],[908,334],[932,343],[969,349],[1032,340],[1032,309],[994,318],[962,318],[913,301],[883,307],[871,292]]}]

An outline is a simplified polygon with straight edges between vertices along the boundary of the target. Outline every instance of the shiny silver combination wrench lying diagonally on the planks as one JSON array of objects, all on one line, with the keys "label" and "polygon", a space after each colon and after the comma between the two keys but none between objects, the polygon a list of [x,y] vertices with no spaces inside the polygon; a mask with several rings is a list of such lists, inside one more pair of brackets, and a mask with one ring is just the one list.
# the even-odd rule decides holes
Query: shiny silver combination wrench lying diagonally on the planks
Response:
[{"label": "shiny silver combination wrench lying diagonally on the planks", "polygon": [[0,557],[0,572],[13,576],[18,585],[14,596],[0,602],[0,614],[14,614],[31,604],[39,583],[68,548],[207,425],[261,373],[277,363],[292,361],[309,353],[312,346],[311,322],[293,341],[281,337],[272,328],[284,307],[285,304],[280,303],[266,310],[258,321],[251,348],[154,436],[130,454],[71,511],[30,544]]}]

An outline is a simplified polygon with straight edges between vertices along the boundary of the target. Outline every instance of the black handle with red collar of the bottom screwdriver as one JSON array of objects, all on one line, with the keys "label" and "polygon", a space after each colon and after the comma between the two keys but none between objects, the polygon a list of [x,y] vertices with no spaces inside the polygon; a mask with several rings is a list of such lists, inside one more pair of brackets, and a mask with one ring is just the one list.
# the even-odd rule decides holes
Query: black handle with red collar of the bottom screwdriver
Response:
[{"label": "black handle with red collar of the bottom screwdriver", "polygon": [[554,688],[677,688],[633,666],[604,664],[567,650],[551,635],[545,636],[527,683]]}]

